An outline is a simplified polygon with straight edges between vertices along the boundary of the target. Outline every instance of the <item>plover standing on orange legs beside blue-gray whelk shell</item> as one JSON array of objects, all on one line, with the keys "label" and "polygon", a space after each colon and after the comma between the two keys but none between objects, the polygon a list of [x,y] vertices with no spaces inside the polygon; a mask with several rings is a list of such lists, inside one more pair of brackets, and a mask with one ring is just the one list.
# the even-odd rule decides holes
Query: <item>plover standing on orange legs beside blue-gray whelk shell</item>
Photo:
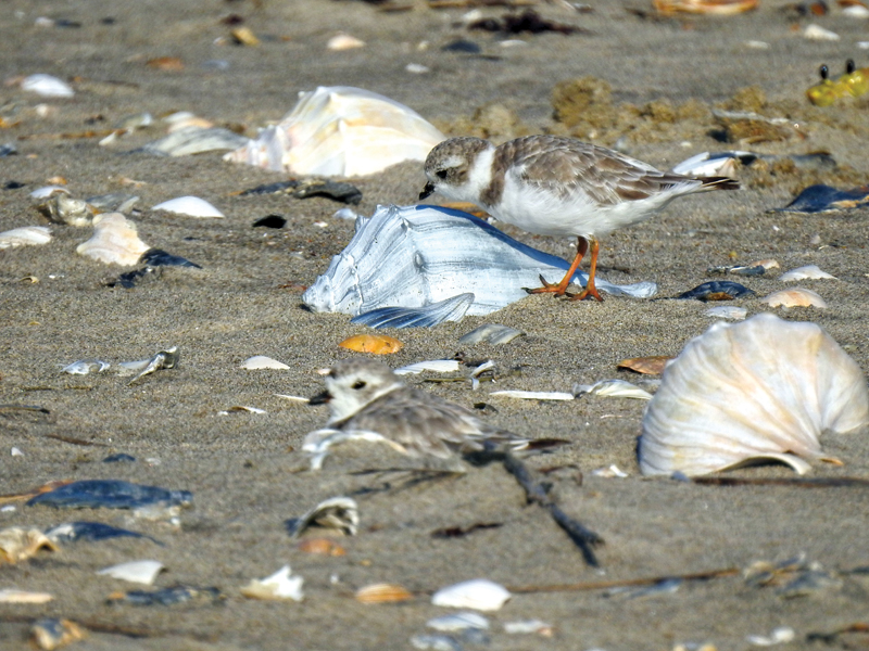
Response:
[{"label": "plover standing on orange legs beside blue-gray whelk shell", "polygon": [[572,138],[528,136],[500,146],[479,138],[438,144],[425,165],[419,200],[438,192],[474,203],[501,221],[542,235],[575,235],[577,255],[559,283],[528,290],[564,295],[591,245],[585,289],[575,296],[603,301],[594,286],[599,237],[648,219],[677,196],[735,190],[728,177],[689,177],[659,171],[641,161]]}]

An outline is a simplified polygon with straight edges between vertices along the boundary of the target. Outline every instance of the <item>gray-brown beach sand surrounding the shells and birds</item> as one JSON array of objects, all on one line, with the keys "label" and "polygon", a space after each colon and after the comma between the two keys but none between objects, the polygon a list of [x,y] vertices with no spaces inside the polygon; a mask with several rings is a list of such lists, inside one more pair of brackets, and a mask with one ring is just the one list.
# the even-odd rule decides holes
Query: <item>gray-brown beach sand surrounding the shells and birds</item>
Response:
[{"label": "gray-brown beach sand surrounding the shells and birds", "polygon": [[[141,239],[202,266],[169,269],[125,290],[108,286],[125,271],[79,255],[75,247],[90,229],[52,226],[54,239],[41,247],[0,252],[0,404],[48,410],[0,410],[0,493],[18,493],[53,480],[117,478],[193,493],[193,508],[180,527],[133,520],[111,510],[59,511],[25,507],[0,512],[0,528],[48,527],[92,520],[147,533],[165,544],[121,538],[65,545],[29,562],[0,565],[0,588],[48,591],[43,605],[0,605],[0,648],[26,643],[29,623],[65,617],[91,630],[76,649],[406,649],[413,636],[430,633],[426,622],[449,612],[431,605],[431,591],[459,580],[486,577],[516,589],[489,615],[492,649],[672,649],[710,643],[745,649],[748,635],[790,626],[789,648],[819,648],[809,634],[831,633],[866,622],[869,579],[848,574],[841,585],[784,599],[776,587],[750,587],[739,575],[685,582],[675,592],[643,598],[603,589],[530,590],[545,586],[597,584],[715,570],[744,570],[756,561],[805,554],[828,571],[869,565],[866,487],[801,488],[747,485],[701,486],[645,480],[635,442],[645,403],[587,396],[567,403],[489,398],[491,385],[471,392],[468,383],[423,384],[444,398],[494,408],[486,418],[520,435],[554,436],[571,443],[528,460],[546,475],[570,515],[605,539],[600,567],[580,553],[503,468],[470,469],[461,476],[407,484],[414,468],[379,447],[348,447],[318,473],[305,471],[304,435],[322,426],[324,408],[274,394],[310,396],[322,390],[317,369],[351,355],[337,347],[365,332],[344,315],[301,308],[301,292],[324,272],[353,234],[353,222],[333,218],[342,207],[326,199],[286,195],[238,196],[284,175],[225,163],[219,153],[180,158],[129,154],[160,138],[158,124],[100,146],[99,137],[52,135],[110,129],[144,111],[155,116],[191,111],[218,124],[240,124],[248,135],[278,120],[299,91],[317,86],[357,86],[407,104],[449,135],[475,132],[503,140],[522,132],[570,132],[553,119],[553,89],[565,80],[593,76],[612,86],[613,115],[635,106],[633,122],[580,125],[580,133],[604,145],[619,139],[627,151],[662,169],[702,151],[750,149],[774,154],[830,152],[832,173],[789,167],[744,168],[739,192],[679,200],[658,217],[603,240],[601,273],[617,283],[651,280],[658,297],[673,296],[707,277],[709,266],[776,258],[783,270],[817,264],[835,281],[805,281],[829,303],[819,309],[777,314],[810,320],[829,332],[866,371],[867,242],[869,212],[804,215],[768,213],[804,187],[826,181],[841,188],[866,182],[867,98],[815,108],[805,90],[817,68],[835,73],[847,58],[866,63],[856,43],[866,40],[865,21],[841,13],[813,18],[841,35],[810,41],[801,30],[813,20],[796,18],[783,2],[764,2],[750,14],[727,18],[641,18],[627,11],[645,2],[596,2],[592,13],[559,5],[538,10],[588,34],[519,35],[525,44],[504,47],[505,36],[469,31],[464,9],[385,13],[363,2],[305,0],[238,2],[109,2],[8,0],[0,7],[0,73],[49,73],[74,78],[71,100],[41,100],[17,87],[0,88],[3,116],[17,122],[0,129],[2,142],[18,154],[0,159],[0,182],[25,183],[0,190],[0,231],[46,225],[28,197],[51,177],[63,176],[76,196],[125,191],[139,195]],[[500,17],[503,8],[482,9]],[[260,47],[226,44],[235,13],[256,34]],[[77,28],[38,27],[39,16],[80,23]],[[112,18],[110,24],[104,18]],[[364,48],[327,51],[339,31],[361,38]],[[219,39],[223,39],[223,43]],[[479,53],[444,51],[464,39]],[[747,41],[768,43],[750,47]],[[424,47],[423,43],[427,43]],[[178,56],[180,72],[153,69],[147,61]],[[211,61],[228,63],[215,69]],[[405,71],[410,63],[426,74]],[[799,125],[785,140],[722,143],[707,113],[673,119],[667,106],[694,100],[705,111],[732,107],[740,89],[757,86],[767,104],[759,112]],[[751,93],[748,93],[751,94]],[[743,95],[744,97],[744,95]],[[668,103],[662,102],[667,100]],[[45,116],[38,104],[49,108]],[[654,104],[650,104],[654,103]],[[736,102],[739,104],[739,102]],[[496,104],[496,108],[479,112]],[[744,107],[745,102],[741,104]],[[475,114],[477,116],[475,117]],[[494,117],[492,117],[494,115]],[[488,117],[487,117],[488,116]],[[501,117],[498,117],[501,116]],[[506,116],[506,117],[505,117]],[[509,116],[514,116],[511,118]],[[670,117],[668,117],[670,116]],[[515,119],[514,119],[515,118]],[[615,119],[615,118],[614,118]],[[513,120],[513,122],[512,122]],[[615,125],[615,126],[614,126]],[[123,179],[141,184],[125,186]],[[421,165],[405,163],[353,179],[364,193],[355,208],[369,215],[378,204],[413,204],[425,180]],[[196,219],[148,208],[180,195],[215,204],[226,219]],[[288,219],[281,230],[254,229],[269,214]],[[325,221],[325,228],[315,225]],[[512,237],[570,258],[575,243],[504,227]],[[36,277],[39,282],[24,280]],[[742,280],[764,296],[784,286],[777,272]],[[738,299],[750,314],[770,311],[757,297]],[[458,337],[479,324],[503,323],[527,336],[503,346],[464,349],[470,359],[493,359],[504,371],[502,390],[570,391],[574,383],[641,378],[616,369],[619,360],[676,355],[713,319],[695,301],[570,303],[529,296],[488,317],[466,318],[431,330],[391,331],[404,348],[386,359],[393,367],[449,358],[463,350]],[[180,363],[128,385],[115,374],[73,376],[60,369],[75,360],[112,363],[150,357],[178,346]],[[267,355],[287,371],[245,371],[240,362]],[[252,406],[266,413],[219,411]],[[734,408],[739,406],[734,405]],[[492,411],[492,410],[490,410]],[[66,439],[78,439],[68,443]],[[84,442],[84,443],[83,443]],[[866,433],[829,435],[824,450],[844,461],[815,463],[815,477],[869,478]],[[12,448],[23,456],[11,456]],[[125,452],[133,463],[103,463]],[[616,464],[626,478],[593,476]],[[418,467],[418,464],[417,464]],[[382,472],[361,473],[363,470]],[[728,473],[747,478],[789,478],[792,471],[767,465]],[[337,539],[347,554],[319,557],[297,548],[285,521],[319,501],[355,496],[360,532]],[[444,527],[471,527],[463,537],[439,538]],[[217,603],[134,607],[106,603],[110,593],[134,584],[96,572],[135,559],[166,565],[158,586],[217,587]],[[252,601],[238,588],[289,563],[304,577],[305,600]],[[416,595],[399,604],[366,605],[354,591],[374,583],[396,583]],[[540,618],[553,628],[541,635],[507,635],[503,623]],[[461,636],[459,636],[461,637]],[[462,642],[465,648],[483,648]],[[867,643],[847,634],[831,648]],[[847,646],[851,644],[851,646]]]}]

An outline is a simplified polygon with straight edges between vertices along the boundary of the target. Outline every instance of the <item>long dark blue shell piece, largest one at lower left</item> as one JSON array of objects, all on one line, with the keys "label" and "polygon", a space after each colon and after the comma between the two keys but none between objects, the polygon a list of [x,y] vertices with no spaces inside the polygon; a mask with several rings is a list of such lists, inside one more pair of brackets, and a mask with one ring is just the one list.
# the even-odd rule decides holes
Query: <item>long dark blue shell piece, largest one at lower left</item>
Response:
[{"label": "long dark blue shell piece, largest one at lower left", "polygon": [[119,480],[73,482],[27,502],[55,509],[139,509],[150,506],[186,506],[193,500],[189,490],[167,490],[159,486],[131,484]]}]

